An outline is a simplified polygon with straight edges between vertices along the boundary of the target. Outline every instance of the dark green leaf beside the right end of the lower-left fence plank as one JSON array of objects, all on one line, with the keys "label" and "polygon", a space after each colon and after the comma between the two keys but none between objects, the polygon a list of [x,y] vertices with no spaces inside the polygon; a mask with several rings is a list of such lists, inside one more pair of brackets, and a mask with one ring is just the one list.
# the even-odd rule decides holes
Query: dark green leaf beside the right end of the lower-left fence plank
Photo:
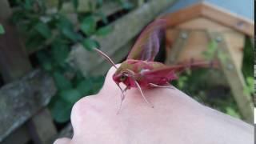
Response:
[{"label": "dark green leaf beside the right end of the lower-left fence plank", "polygon": [[67,90],[72,88],[70,80],[68,80],[64,75],[55,71],[53,74],[55,85],[58,90]]}]

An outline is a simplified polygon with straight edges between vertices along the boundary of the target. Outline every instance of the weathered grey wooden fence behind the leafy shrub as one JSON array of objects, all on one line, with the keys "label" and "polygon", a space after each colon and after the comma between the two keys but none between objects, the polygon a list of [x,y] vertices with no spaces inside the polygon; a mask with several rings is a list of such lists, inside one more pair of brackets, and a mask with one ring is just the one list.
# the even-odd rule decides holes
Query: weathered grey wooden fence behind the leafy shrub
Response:
[{"label": "weathered grey wooden fence behind the leafy shrub", "polygon": [[[130,50],[130,44],[142,27],[173,2],[174,0],[151,0],[139,3],[135,10],[111,23],[114,30],[106,38],[94,38],[106,54],[114,58],[114,61],[120,62]],[[85,10],[85,7],[80,6],[78,10]],[[106,2],[102,7],[102,11],[108,16],[120,10],[122,7],[113,2]],[[72,12],[69,3],[66,3],[66,11]],[[52,143],[58,137],[72,137],[70,124],[60,131],[56,130],[47,108],[50,98],[56,92],[53,79],[44,71],[35,70],[29,58],[44,46],[26,51],[15,26],[8,22],[11,14],[9,2],[1,0],[0,23],[6,33],[0,35],[0,81],[2,79],[4,82],[0,89],[0,143]],[[96,55],[88,54],[78,44],[73,47],[68,60],[84,74],[104,74],[110,67]],[[96,60],[94,65],[90,64],[92,60]]]}]

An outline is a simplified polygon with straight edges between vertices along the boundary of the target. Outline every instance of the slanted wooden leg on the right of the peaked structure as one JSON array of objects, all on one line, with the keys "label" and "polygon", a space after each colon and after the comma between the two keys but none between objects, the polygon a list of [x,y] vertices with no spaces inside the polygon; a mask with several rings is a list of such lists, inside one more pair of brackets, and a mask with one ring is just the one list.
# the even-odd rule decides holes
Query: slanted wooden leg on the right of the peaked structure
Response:
[{"label": "slanted wooden leg on the right of the peaked structure", "polygon": [[250,95],[245,94],[243,89],[245,87],[245,80],[242,76],[242,71],[234,64],[234,59],[230,54],[231,46],[227,44],[227,41],[223,34],[209,33],[209,38],[218,41],[218,47],[222,54],[226,54],[225,60],[220,59],[220,64],[223,73],[226,76],[227,82],[230,85],[230,89],[234,96],[234,100],[238,104],[238,109],[240,110],[243,118],[246,122],[253,122],[253,101]]}]

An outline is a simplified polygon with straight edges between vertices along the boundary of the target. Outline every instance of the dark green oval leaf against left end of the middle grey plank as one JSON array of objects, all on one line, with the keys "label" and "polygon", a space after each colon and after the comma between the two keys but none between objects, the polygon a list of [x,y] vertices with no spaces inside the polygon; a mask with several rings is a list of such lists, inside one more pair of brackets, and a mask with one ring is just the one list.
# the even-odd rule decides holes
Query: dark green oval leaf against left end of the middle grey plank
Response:
[{"label": "dark green oval leaf against left end of the middle grey plank", "polygon": [[60,66],[64,66],[66,63],[66,58],[70,53],[69,47],[61,42],[60,40],[55,40],[51,46],[51,54],[53,55],[54,61]]}]

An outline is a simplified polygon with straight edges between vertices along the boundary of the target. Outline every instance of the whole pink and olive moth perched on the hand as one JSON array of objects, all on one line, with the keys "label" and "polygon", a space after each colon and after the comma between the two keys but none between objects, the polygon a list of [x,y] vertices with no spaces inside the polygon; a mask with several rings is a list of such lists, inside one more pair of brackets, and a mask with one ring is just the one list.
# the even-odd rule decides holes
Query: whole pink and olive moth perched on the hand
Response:
[{"label": "whole pink and olive moth perched on the hand", "polygon": [[[177,79],[178,76],[176,74],[188,67],[187,65],[166,66],[160,62],[153,62],[154,57],[158,54],[160,40],[165,34],[165,27],[166,21],[163,19],[157,19],[149,26],[146,26],[146,29],[142,31],[132,50],[130,50],[126,61],[122,62],[118,68],[101,50],[94,49],[117,69],[113,75],[113,80],[122,91],[118,112],[121,110],[126,90],[129,90],[131,87],[138,88],[145,102],[149,106],[154,107],[146,99],[142,88],[161,87],[172,89],[172,86],[166,86],[166,84]],[[202,65],[206,65],[206,62],[190,63],[189,67]],[[119,85],[121,82],[126,85],[124,90]]]}]

